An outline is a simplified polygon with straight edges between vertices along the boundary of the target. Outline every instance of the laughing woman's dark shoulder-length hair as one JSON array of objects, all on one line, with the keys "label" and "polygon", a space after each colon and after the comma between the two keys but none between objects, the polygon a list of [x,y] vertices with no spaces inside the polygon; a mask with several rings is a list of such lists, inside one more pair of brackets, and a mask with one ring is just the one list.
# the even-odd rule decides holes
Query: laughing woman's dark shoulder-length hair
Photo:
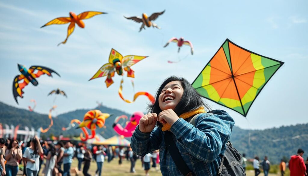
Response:
[{"label": "laughing woman's dark shoulder-length hair", "polygon": [[[186,79],[177,76],[170,76],[164,80],[164,82],[158,88],[156,92],[155,103],[148,105],[148,113],[156,113],[158,115],[162,111],[159,107],[159,95],[163,88],[172,81],[180,81],[181,86],[184,89],[183,96],[179,104],[177,104],[174,108],[176,115],[180,116],[183,113],[187,113],[194,109],[200,108],[201,106],[204,106],[207,110],[210,110],[209,106],[203,102],[201,95]],[[160,122],[157,122],[157,126],[162,127],[163,125]]]}]

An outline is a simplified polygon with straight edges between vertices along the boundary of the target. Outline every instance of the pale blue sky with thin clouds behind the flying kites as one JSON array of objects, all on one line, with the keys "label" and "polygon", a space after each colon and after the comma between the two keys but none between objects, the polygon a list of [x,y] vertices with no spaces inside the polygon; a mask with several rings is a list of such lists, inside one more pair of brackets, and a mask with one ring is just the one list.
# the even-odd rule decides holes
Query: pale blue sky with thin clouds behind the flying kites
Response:
[{"label": "pale blue sky with thin clouds behind the flying kites", "polygon": [[[215,104],[213,109],[224,109],[241,128],[265,129],[307,123],[303,114],[307,108],[307,29],[308,2],[302,1],[1,1],[0,2],[0,101],[20,108],[37,101],[36,111],[48,113],[53,104],[57,112],[64,113],[80,108],[94,108],[96,101],[128,113],[145,111],[148,100],[139,97],[127,104],[118,96],[120,76],[108,89],[99,78],[87,81],[107,63],[111,48],[122,55],[148,55],[132,67],[135,70],[135,91],[154,94],[160,83],[170,75],[182,76],[193,82],[205,64],[215,54],[226,38],[258,54],[285,62],[270,82],[266,84],[247,115]],[[146,28],[127,20],[125,16],[148,15],[166,10],[155,23],[161,30]],[[68,25],[42,25],[70,11],[103,11],[84,20],[85,28],[75,28],[65,45],[57,47],[67,34]],[[189,47],[177,47],[171,43],[163,48],[171,37],[184,37],[194,45],[195,53],[189,55]],[[185,58],[177,64],[167,60]],[[12,82],[18,75],[17,63],[47,66],[61,77],[42,76],[39,86],[28,85],[24,98],[17,105],[12,96]],[[125,77],[124,97],[133,96],[130,78]],[[47,94],[61,88],[68,98]]]}]

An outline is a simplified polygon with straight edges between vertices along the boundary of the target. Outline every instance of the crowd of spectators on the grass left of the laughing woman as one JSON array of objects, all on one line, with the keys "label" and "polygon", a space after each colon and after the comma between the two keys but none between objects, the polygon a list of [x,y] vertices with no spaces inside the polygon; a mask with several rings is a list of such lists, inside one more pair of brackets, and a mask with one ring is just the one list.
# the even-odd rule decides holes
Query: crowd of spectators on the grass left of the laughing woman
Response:
[{"label": "crowd of spectators on the grass left of the laughing woman", "polygon": [[[70,176],[73,159],[78,161],[78,170],[84,176],[88,173],[91,162],[96,162],[95,176],[101,176],[105,158],[107,162],[119,159],[119,165],[126,159],[131,162],[130,172],[135,173],[135,163],[140,159],[145,173],[148,174],[150,162],[158,170],[159,151],[140,157],[132,152],[130,147],[107,145],[88,145],[81,142],[72,144],[70,141],[42,141],[34,137],[28,142],[0,138],[0,171],[1,176],[16,176],[18,170],[23,170],[23,176]],[[21,165],[20,165],[21,164]],[[42,167],[44,165],[44,167]],[[23,168],[22,168],[23,166]],[[43,168],[43,169],[41,169]]]}]

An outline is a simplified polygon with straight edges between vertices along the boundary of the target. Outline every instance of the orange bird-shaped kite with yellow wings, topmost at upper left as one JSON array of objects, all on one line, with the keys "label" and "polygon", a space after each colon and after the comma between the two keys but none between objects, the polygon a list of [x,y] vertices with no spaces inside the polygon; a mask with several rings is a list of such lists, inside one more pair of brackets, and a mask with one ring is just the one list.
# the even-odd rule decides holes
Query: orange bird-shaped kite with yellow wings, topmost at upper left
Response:
[{"label": "orange bird-shaped kite with yellow wings, topmost at upper left", "polygon": [[[86,11],[86,12],[83,12],[79,15],[76,15],[74,12],[70,12],[70,16],[69,17],[59,17],[59,18],[55,18],[53,20],[51,20],[50,22],[46,23],[44,26],[42,27],[45,27],[45,26],[49,26],[49,25],[52,25],[52,24],[66,24],[66,23],[70,23],[70,25],[68,26],[68,29],[67,29],[67,37],[66,39],[61,42],[63,44],[66,43],[68,37],[73,33],[74,29],[75,29],[75,23],[81,27],[81,28],[84,28],[85,25],[83,23],[83,19],[88,19],[88,18],[91,18],[95,15],[99,15],[99,14],[107,14],[105,12],[96,12],[96,11]],[[42,28],[41,27],[41,28]],[[59,43],[58,46],[61,44]]]}]

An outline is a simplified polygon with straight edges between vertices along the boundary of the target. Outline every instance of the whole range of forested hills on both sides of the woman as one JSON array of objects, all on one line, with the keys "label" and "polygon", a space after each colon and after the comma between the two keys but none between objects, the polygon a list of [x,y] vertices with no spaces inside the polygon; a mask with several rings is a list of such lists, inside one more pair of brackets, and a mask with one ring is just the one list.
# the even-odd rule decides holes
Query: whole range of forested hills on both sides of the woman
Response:
[{"label": "whole range of forested hills on both sides of the woman", "polygon": [[[104,113],[114,114],[106,120],[106,129],[97,129],[97,133],[102,134],[105,138],[115,135],[112,129],[115,117],[120,115],[130,116],[130,114],[125,112],[105,106],[97,107],[97,109]],[[58,115],[57,118],[54,118],[54,125],[51,129],[47,133],[42,133],[41,136],[48,137],[51,133],[55,136],[60,134],[64,136],[78,136],[81,132],[80,129],[71,129],[63,132],[62,127],[67,127],[72,119],[82,121],[84,114],[89,110],[78,109]],[[30,112],[0,102],[0,123],[12,124],[14,126],[20,125],[21,129],[24,129],[24,126],[33,126],[34,129],[38,129],[41,126],[43,128],[48,127],[50,121],[47,114]],[[246,153],[247,158],[259,156],[262,159],[267,155],[270,162],[279,163],[281,158],[289,158],[292,154],[295,154],[298,148],[302,148],[308,153],[308,124],[282,126],[265,130],[245,130],[235,126],[230,141],[240,153]],[[304,157],[307,157],[306,153]]]}]

